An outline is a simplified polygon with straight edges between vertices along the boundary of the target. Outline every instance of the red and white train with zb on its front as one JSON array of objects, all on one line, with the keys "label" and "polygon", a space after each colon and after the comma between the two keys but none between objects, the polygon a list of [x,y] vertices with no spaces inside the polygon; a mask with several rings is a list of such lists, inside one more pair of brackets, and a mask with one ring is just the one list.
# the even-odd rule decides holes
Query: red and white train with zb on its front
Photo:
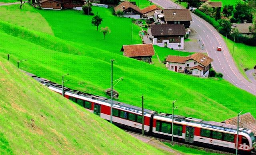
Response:
[{"label": "red and white train with zb on its front", "polygon": [[[62,85],[37,77],[27,73],[50,90],[62,94]],[[110,121],[109,98],[97,96],[72,90],[64,87],[64,97],[84,107],[101,118]],[[142,124],[142,108],[132,106],[113,100],[112,121],[116,126],[135,132],[144,132],[146,135],[162,139],[172,137],[172,117],[173,139],[190,145],[197,145],[217,149],[221,151],[233,152],[236,149],[236,137],[238,136],[238,152],[250,154],[255,152],[256,137],[250,129],[239,128],[237,126],[214,121],[204,121],[198,118],[185,117],[180,115],[158,113],[153,110],[144,109],[144,124]]]}]

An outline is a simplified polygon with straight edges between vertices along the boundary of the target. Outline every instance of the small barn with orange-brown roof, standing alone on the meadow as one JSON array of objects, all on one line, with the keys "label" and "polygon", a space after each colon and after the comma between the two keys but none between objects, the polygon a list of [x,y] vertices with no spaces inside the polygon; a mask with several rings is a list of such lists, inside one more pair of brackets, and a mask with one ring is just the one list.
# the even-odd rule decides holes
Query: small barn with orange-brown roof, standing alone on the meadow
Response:
[{"label": "small barn with orange-brown roof, standing alone on the meadow", "polygon": [[147,63],[152,63],[152,56],[155,54],[152,44],[123,45],[121,51],[126,57]]}]

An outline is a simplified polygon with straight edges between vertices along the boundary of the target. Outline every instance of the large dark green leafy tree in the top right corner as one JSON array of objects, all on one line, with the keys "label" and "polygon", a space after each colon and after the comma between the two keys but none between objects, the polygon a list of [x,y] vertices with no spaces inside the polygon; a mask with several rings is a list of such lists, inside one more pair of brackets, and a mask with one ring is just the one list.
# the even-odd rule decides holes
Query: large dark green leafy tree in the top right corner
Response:
[{"label": "large dark green leafy tree in the top right corner", "polygon": [[247,3],[236,4],[234,18],[239,20],[240,23],[243,23],[244,20],[247,20],[248,23],[251,23],[252,22],[252,8]]}]

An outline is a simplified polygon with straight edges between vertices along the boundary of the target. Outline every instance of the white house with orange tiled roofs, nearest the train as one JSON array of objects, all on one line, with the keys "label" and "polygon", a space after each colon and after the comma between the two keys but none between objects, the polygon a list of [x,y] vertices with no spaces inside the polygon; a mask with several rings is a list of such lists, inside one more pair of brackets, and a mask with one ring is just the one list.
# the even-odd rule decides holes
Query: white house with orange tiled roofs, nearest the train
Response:
[{"label": "white house with orange tiled roofs, nearest the train", "polygon": [[190,57],[169,55],[166,58],[166,67],[175,72],[188,73],[198,77],[208,77],[210,63],[213,59],[203,53],[195,53]]}]

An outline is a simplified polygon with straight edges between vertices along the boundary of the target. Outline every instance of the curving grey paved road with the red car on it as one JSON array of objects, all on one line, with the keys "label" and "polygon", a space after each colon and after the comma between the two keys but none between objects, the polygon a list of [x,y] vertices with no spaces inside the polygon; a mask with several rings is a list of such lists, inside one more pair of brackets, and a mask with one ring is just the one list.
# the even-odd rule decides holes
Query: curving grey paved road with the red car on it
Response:
[{"label": "curving grey paved road with the red car on it", "polygon": [[[179,6],[170,0],[152,0],[152,2],[163,8],[182,8],[182,6]],[[256,83],[249,82],[242,76],[228,51],[224,39],[218,31],[195,14],[191,13],[191,16],[193,22],[191,22],[190,29],[194,29],[198,33],[198,37],[203,41],[209,57],[214,59],[212,62],[214,70],[222,73],[224,79],[228,80],[238,88],[242,88],[247,92],[256,95]],[[221,52],[216,51],[217,46],[222,47]],[[234,54],[236,54],[236,51]]]}]

